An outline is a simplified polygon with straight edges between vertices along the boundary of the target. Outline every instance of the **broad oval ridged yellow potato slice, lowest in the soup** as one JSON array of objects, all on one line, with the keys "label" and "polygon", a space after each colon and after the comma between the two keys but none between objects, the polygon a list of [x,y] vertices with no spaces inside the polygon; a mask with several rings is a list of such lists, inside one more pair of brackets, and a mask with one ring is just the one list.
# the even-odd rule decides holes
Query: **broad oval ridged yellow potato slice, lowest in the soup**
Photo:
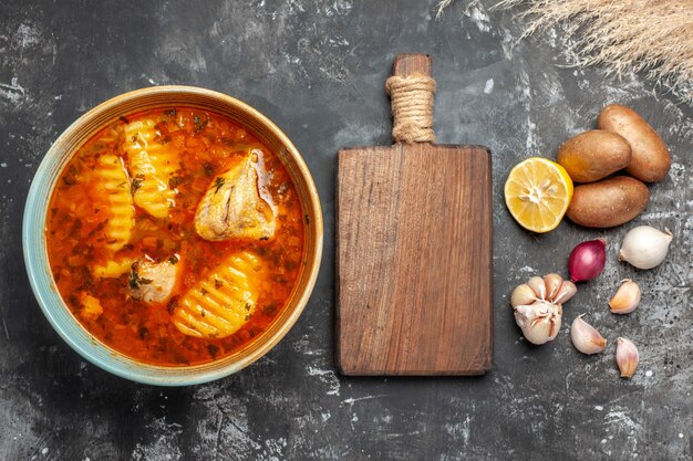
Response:
[{"label": "broad oval ridged yellow potato slice, lowest in the soup", "polygon": [[231,254],[179,300],[173,323],[201,338],[236,333],[255,313],[261,269],[260,258],[249,251]]}]

